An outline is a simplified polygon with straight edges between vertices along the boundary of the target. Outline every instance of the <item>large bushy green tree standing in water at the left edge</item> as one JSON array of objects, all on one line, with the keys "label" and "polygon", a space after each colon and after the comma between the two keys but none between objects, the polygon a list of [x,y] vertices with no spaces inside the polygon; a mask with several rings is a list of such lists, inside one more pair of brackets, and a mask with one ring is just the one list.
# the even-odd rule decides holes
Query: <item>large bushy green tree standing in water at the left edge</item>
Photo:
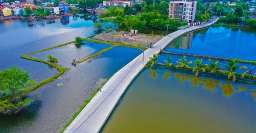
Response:
[{"label": "large bushy green tree standing in water at the left edge", "polygon": [[30,90],[27,88],[34,84],[35,80],[30,79],[29,72],[18,67],[0,71],[0,113],[15,114],[29,106],[34,99],[28,98]]}]

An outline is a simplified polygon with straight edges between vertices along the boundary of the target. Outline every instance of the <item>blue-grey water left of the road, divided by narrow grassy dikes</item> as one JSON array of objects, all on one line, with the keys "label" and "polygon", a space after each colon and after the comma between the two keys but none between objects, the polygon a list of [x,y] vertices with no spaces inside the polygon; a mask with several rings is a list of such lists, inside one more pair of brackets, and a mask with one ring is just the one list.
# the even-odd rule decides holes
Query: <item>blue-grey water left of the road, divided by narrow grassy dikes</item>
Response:
[{"label": "blue-grey water left of the road, divided by narrow grassy dikes", "polygon": [[[29,71],[32,79],[37,79],[37,81],[55,75],[57,73],[55,68],[20,57],[74,41],[77,36],[89,37],[99,33],[93,29],[93,24],[97,20],[89,18],[89,16],[88,19],[83,15],[64,19],[35,21],[32,27],[28,26],[29,22],[27,21],[0,22],[0,28],[3,29],[3,32],[0,33],[0,70],[19,66],[23,70]],[[113,25],[115,23],[104,23],[105,27]],[[59,79],[33,91],[31,96],[41,93],[41,97],[32,106],[18,114],[0,116],[0,133],[60,132],[63,125],[71,119],[96,88],[141,53],[141,50],[138,49],[114,47],[77,66],[71,65],[74,58],[82,58],[110,46],[85,41],[79,47],[67,45],[32,55],[45,60],[46,55],[52,54],[59,58],[60,65],[71,69]]]}]

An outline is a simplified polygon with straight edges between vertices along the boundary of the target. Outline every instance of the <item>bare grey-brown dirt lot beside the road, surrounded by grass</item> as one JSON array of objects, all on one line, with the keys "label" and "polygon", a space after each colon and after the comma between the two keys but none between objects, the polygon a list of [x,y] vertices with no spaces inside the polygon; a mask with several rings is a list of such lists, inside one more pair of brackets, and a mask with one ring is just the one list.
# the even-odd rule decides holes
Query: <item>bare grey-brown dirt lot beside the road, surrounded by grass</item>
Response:
[{"label": "bare grey-brown dirt lot beside the road, surrounded by grass", "polygon": [[[163,36],[153,35],[153,44],[158,42],[161,38],[163,38]],[[152,35],[138,33],[132,34],[131,36],[131,33],[126,33],[124,31],[112,31],[95,35],[93,39],[132,45],[146,45],[152,41]]]}]

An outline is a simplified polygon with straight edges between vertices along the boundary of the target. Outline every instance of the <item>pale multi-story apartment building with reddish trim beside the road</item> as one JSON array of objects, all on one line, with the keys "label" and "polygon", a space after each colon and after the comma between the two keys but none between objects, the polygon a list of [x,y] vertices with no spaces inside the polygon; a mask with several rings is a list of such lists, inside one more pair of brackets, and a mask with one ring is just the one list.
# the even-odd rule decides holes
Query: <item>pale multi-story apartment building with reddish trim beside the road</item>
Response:
[{"label": "pale multi-story apartment building with reddish trim beside the road", "polygon": [[192,23],[196,16],[196,1],[170,1],[169,18]]}]

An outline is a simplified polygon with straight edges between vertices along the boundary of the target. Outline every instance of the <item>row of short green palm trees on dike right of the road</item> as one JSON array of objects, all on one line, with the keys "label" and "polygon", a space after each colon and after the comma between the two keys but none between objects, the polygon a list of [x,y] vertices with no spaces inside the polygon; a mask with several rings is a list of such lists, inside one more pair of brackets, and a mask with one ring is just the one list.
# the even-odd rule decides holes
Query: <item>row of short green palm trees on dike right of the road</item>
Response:
[{"label": "row of short green palm trees on dike right of the road", "polygon": [[[195,63],[193,63],[193,61],[188,62],[186,60],[186,56],[184,56],[183,58],[180,58],[178,61],[176,61],[177,65],[173,65],[171,63],[170,56],[167,57],[167,60],[164,60],[166,64],[158,63],[157,57],[159,57],[159,55],[157,54],[153,54],[153,57],[150,57],[149,64],[148,64],[150,68],[152,68],[155,64],[159,64],[159,65],[165,65],[165,66],[170,66],[174,68],[192,70],[193,72],[195,72],[195,76],[198,76],[199,72],[202,71],[202,72],[210,72],[210,73],[227,74],[228,79],[232,77],[233,82],[235,82],[236,80],[236,74],[234,72],[238,69],[237,59],[230,59],[230,62],[228,63],[228,65],[225,65],[225,68],[227,69],[227,71],[222,71],[220,70],[221,64],[218,61],[214,62],[214,61],[211,61],[210,59],[209,59],[209,64],[202,64],[203,62],[202,59],[196,59]],[[194,67],[191,67],[191,65],[193,65]],[[246,72],[242,74],[241,76],[242,78],[244,77],[245,74],[247,74]]]}]

